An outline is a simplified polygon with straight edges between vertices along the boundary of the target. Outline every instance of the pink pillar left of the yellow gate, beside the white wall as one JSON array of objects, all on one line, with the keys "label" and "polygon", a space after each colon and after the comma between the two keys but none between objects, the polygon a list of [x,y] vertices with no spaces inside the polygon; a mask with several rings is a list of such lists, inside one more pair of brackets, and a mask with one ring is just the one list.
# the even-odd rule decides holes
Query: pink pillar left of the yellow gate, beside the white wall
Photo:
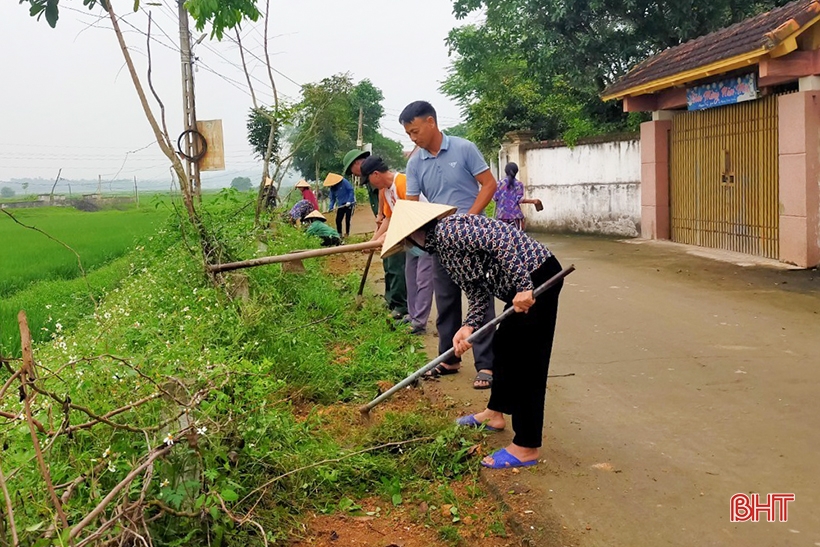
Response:
[{"label": "pink pillar left of the yellow gate, beside the white wall", "polygon": [[669,132],[671,120],[641,124],[641,237],[669,239]]}]

